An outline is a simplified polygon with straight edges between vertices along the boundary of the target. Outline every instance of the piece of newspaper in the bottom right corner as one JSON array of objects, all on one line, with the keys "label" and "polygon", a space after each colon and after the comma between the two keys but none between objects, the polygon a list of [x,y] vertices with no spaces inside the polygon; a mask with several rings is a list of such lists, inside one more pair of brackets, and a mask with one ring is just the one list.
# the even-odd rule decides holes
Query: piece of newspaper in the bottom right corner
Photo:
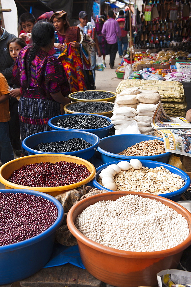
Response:
[{"label": "piece of newspaper in the bottom right corner", "polygon": [[191,272],[167,269],[157,273],[159,287],[190,287]]}]

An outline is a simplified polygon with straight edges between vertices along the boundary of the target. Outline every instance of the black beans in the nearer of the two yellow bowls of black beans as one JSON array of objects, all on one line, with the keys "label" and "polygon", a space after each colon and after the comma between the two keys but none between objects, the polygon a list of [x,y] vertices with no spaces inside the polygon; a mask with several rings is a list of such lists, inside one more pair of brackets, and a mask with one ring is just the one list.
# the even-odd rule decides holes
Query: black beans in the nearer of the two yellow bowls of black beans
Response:
[{"label": "black beans in the nearer of the two yellow bowls of black beans", "polygon": [[75,102],[68,105],[67,109],[78,113],[105,113],[113,110],[114,104],[106,103],[102,101],[92,102]]}]

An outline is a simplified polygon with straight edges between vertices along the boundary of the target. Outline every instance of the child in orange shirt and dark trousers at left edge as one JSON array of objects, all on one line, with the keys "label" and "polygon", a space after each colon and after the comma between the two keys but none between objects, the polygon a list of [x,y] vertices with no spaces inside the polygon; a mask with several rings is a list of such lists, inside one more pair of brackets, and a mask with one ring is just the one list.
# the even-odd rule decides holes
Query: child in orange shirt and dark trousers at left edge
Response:
[{"label": "child in orange shirt and dark trousers at left edge", "polygon": [[9,85],[3,74],[0,73],[0,166],[14,159],[13,148],[9,139],[9,98]]}]

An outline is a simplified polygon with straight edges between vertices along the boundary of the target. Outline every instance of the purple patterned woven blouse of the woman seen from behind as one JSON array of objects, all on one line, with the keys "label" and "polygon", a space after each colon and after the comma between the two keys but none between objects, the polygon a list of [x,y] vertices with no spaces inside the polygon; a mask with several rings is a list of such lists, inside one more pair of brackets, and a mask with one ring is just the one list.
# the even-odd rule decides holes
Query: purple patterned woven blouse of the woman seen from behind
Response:
[{"label": "purple patterned woven blouse of the woman seen from behind", "polygon": [[27,98],[51,99],[50,93],[62,92],[68,96],[70,92],[68,80],[62,64],[45,51],[39,50],[31,62],[31,81],[28,84],[27,59],[31,47],[21,49],[13,66],[12,82],[21,86],[23,96]]}]

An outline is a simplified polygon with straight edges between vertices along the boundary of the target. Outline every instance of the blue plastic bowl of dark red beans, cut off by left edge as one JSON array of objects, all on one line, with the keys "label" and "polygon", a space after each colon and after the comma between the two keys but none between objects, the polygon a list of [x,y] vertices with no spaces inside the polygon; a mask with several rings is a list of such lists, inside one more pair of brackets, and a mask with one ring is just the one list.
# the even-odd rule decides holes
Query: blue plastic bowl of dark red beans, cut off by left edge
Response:
[{"label": "blue plastic bowl of dark red beans, cut off by left edge", "polygon": [[42,196],[58,208],[58,218],[47,230],[27,240],[0,247],[0,284],[22,280],[39,271],[50,259],[56,229],[64,219],[62,204],[53,196],[26,189],[1,189],[0,192]]}]

